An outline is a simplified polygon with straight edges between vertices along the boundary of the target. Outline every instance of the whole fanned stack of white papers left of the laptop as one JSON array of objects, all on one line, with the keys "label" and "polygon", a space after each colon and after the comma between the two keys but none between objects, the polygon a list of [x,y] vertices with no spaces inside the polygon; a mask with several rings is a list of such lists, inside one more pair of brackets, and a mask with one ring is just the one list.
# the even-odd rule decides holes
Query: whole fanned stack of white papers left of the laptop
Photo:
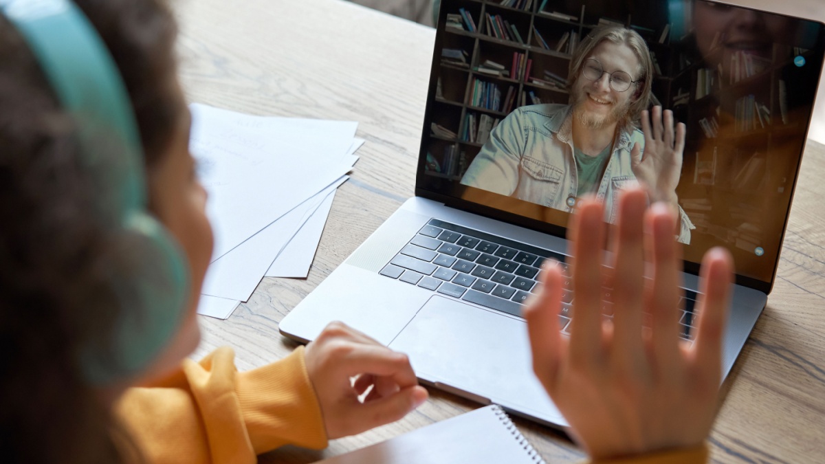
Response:
[{"label": "whole fanned stack of white papers left of the laptop", "polygon": [[226,319],[264,276],[307,277],[336,188],[364,140],[357,123],[190,106],[190,149],[209,193],[214,252],[198,313]]}]

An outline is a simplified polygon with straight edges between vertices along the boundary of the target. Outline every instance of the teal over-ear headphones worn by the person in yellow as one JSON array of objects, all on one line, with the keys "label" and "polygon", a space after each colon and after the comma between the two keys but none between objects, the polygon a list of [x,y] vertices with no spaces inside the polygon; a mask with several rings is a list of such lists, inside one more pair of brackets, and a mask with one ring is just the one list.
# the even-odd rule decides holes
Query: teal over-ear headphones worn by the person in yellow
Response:
[{"label": "teal over-ear headphones worn by the person in yellow", "polygon": [[[78,122],[82,161],[105,171],[105,179],[97,180],[111,186],[106,195],[114,196],[103,199],[104,209],[114,211],[142,257],[129,276],[112,277],[121,314],[111,339],[106,346],[83,347],[80,354],[83,375],[92,384],[124,380],[148,367],[177,333],[188,300],[186,258],[146,211],[143,149],[130,99],[87,17],[69,0],[0,0],[0,11],[26,40],[64,111]],[[112,139],[115,149],[100,148],[100,140]]]}]

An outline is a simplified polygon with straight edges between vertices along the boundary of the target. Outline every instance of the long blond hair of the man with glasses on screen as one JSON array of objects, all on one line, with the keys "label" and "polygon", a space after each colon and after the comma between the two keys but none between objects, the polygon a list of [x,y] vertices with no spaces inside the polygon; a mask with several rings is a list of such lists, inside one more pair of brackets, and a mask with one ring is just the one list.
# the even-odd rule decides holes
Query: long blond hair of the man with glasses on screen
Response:
[{"label": "long blond hair of the man with glasses on screen", "polygon": [[625,128],[633,127],[634,121],[639,121],[639,114],[650,106],[651,88],[653,86],[653,59],[650,57],[648,45],[644,42],[639,33],[626,27],[601,27],[593,30],[573,51],[570,59],[570,69],[568,73],[568,90],[570,91],[570,103],[574,103],[573,88],[577,79],[582,78],[582,66],[584,60],[590,58],[593,49],[601,42],[610,40],[616,45],[625,45],[639,59],[639,69],[637,75],[631,76],[634,81],[634,88],[629,88],[627,92],[634,92],[634,100],[630,103],[627,115],[624,120],[619,121],[619,125]]}]

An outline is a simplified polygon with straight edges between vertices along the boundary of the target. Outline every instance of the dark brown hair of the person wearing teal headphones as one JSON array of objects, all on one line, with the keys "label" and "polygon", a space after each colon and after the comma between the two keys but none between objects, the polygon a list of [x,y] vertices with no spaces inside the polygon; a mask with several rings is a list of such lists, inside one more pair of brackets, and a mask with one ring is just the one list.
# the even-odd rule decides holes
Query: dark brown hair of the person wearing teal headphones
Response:
[{"label": "dark brown hair of the person wearing teal headphones", "polygon": [[[163,0],[74,0],[120,69],[148,172],[181,117],[177,26]],[[4,462],[122,462],[129,443],[82,373],[120,308],[111,272],[128,244],[98,215],[73,117],[0,15],[0,456]],[[151,199],[150,199],[151,203]]]}]

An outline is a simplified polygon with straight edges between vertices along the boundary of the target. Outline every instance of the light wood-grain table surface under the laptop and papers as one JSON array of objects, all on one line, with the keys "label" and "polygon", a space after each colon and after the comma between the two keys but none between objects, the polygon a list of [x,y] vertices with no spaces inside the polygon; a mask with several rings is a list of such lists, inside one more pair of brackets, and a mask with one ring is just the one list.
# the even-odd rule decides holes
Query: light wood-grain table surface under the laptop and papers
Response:
[{"label": "light wood-grain table surface under the laptop and papers", "polygon": [[[191,102],[256,115],[358,121],[366,140],[339,188],[309,278],[265,278],[229,320],[200,319],[199,357],[230,345],[238,368],[284,357],[278,323],[401,203],[413,196],[435,31],[341,0],[178,0],[181,79]],[[825,462],[825,145],[808,142],[768,304],[722,387],[709,439],[720,462]],[[274,198],[273,201],[277,201]],[[261,462],[313,462],[479,405],[430,389],[397,423],[284,447]],[[549,462],[576,461],[563,433],[516,425]]]}]

